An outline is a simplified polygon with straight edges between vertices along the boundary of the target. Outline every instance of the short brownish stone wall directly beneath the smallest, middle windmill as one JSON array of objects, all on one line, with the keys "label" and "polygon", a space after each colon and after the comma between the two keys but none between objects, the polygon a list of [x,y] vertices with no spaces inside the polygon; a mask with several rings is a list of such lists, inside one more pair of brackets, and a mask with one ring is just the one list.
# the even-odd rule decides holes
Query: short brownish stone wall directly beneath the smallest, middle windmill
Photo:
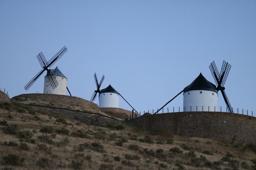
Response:
[{"label": "short brownish stone wall directly beneath the smallest, middle windmill", "polygon": [[[131,111],[121,108],[100,108],[100,110],[107,113],[108,115],[111,115],[112,117],[117,117],[123,120],[126,118],[130,118],[130,115],[132,117]],[[139,114],[134,112],[134,117],[139,117]]]}]

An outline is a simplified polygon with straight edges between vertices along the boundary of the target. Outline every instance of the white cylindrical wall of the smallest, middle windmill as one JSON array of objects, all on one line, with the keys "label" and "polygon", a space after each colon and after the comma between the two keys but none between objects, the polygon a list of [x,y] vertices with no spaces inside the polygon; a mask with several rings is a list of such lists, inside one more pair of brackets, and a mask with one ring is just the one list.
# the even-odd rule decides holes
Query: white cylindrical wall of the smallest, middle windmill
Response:
[{"label": "white cylindrical wall of the smallest, middle windmill", "polygon": [[100,108],[119,108],[119,95],[116,93],[101,93],[99,97]]}]

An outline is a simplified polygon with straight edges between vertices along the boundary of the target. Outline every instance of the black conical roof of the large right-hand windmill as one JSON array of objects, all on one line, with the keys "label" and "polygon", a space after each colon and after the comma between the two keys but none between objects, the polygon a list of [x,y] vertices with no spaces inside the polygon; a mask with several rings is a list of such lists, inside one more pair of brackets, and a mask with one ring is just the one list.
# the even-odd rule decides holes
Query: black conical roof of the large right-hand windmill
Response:
[{"label": "black conical roof of the large right-hand windmill", "polygon": [[198,77],[193,82],[191,82],[191,84],[184,88],[184,92],[191,90],[208,90],[218,93],[216,86],[210,81],[206,80],[202,73],[200,73]]}]

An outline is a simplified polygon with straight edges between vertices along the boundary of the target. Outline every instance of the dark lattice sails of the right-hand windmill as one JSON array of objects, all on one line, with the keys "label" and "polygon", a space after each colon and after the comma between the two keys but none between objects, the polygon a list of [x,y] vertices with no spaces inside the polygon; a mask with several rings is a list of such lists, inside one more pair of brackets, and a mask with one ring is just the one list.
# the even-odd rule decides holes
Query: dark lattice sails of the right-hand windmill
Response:
[{"label": "dark lattice sails of the right-hand windmill", "polygon": [[234,113],[233,108],[231,107],[230,102],[228,101],[228,97],[226,95],[226,92],[224,91],[225,90],[224,84],[225,84],[226,79],[228,77],[228,73],[229,73],[229,70],[231,68],[231,65],[228,64],[228,62],[225,62],[223,60],[223,64],[222,64],[222,67],[221,67],[221,73],[219,73],[214,61],[211,62],[209,68],[211,70],[211,74],[213,75],[213,79],[216,82],[217,90],[218,91],[220,90],[222,95],[223,95],[224,101],[225,101],[226,106],[228,108],[228,112]]}]

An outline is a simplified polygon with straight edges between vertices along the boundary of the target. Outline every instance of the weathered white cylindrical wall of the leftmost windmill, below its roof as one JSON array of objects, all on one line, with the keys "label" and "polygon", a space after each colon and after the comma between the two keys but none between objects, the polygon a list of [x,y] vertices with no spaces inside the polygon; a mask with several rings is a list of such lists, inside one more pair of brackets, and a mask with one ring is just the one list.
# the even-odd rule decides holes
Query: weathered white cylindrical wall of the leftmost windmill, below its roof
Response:
[{"label": "weathered white cylindrical wall of the leftmost windmill, below its roof", "polygon": [[44,86],[44,93],[48,94],[56,94],[56,95],[66,95],[67,89],[67,79],[60,76],[54,76],[59,85],[53,89],[48,76],[45,76],[45,86]]}]

